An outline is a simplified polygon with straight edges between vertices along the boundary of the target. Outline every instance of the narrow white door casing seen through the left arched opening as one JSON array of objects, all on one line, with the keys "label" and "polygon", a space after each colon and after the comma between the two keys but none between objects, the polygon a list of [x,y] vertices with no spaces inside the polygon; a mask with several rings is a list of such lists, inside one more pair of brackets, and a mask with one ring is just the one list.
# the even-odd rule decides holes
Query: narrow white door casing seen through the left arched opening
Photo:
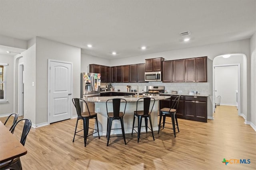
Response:
[{"label": "narrow white door casing seen through the left arched opening", "polygon": [[24,63],[19,64],[18,70],[18,114],[24,116]]}]

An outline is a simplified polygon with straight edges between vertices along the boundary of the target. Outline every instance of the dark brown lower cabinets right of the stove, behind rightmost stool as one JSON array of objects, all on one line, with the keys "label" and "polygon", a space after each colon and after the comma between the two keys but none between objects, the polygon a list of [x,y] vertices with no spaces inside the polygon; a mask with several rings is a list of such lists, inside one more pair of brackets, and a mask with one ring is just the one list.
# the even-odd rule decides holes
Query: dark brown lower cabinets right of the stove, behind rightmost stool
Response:
[{"label": "dark brown lower cabinets right of the stove, behind rightmost stool", "polygon": [[[160,100],[159,109],[172,106],[172,101],[176,96],[172,95],[170,97],[171,100],[169,101]],[[180,119],[207,122],[207,97],[180,96],[180,102],[176,114]]]}]

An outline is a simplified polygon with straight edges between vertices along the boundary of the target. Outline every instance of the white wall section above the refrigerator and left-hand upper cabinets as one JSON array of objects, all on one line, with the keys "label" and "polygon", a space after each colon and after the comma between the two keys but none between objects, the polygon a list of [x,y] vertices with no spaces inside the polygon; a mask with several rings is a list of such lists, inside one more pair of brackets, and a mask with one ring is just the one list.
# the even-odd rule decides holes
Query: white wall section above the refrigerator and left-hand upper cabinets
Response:
[{"label": "white wall section above the refrigerator and left-hand upper cabinets", "polygon": [[81,72],[89,72],[89,64],[99,64],[104,66],[110,66],[110,60],[95,57],[88,54],[81,54]]}]

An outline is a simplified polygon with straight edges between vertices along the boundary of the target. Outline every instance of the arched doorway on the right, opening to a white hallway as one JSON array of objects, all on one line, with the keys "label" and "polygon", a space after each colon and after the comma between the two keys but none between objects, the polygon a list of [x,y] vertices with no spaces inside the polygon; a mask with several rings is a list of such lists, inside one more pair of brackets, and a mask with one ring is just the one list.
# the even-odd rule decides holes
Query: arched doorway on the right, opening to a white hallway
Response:
[{"label": "arched doorway on the right, opening to a white hallway", "polygon": [[[224,97],[223,101],[220,102],[221,105],[237,105],[238,115],[244,117],[244,119],[246,119],[244,113],[246,113],[247,106],[246,84],[247,66],[244,54],[220,55],[214,58],[213,97],[219,95]],[[235,88],[237,88],[237,91]],[[213,107],[215,111],[215,100]]]}]

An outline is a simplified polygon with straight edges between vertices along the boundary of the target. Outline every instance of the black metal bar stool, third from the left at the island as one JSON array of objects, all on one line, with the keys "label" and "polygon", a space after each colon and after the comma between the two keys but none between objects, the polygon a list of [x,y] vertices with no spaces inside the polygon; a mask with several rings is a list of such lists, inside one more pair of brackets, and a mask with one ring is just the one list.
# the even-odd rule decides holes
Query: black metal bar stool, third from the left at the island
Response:
[{"label": "black metal bar stool, third from the left at the island", "polygon": [[[143,110],[138,110],[138,102],[142,102],[143,100]],[[152,108],[151,108],[151,111],[150,110],[150,102],[151,101],[154,101],[153,105],[152,105]],[[140,129],[141,127],[146,127],[146,133],[148,133],[148,119],[149,119],[149,122],[150,122],[150,130],[151,130],[151,133],[152,133],[152,136],[153,136],[153,139],[155,140],[154,138],[154,132],[153,132],[153,127],[152,127],[152,121],[151,121],[151,112],[152,112],[152,109],[154,107],[154,104],[155,104],[155,99],[154,98],[140,98],[137,100],[137,105],[136,105],[136,111],[134,111],[134,117],[133,117],[133,124],[132,124],[132,133],[133,133],[133,130],[136,131],[134,129],[134,122],[135,122],[135,117],[138,117],[138,132],[136,131],[136,133],[138,133],[138,142],[140,140],[140,134],[144,134],[144,133],[140,133]],[[142,126],[142,118],[145,119],[145,126]]]}]

